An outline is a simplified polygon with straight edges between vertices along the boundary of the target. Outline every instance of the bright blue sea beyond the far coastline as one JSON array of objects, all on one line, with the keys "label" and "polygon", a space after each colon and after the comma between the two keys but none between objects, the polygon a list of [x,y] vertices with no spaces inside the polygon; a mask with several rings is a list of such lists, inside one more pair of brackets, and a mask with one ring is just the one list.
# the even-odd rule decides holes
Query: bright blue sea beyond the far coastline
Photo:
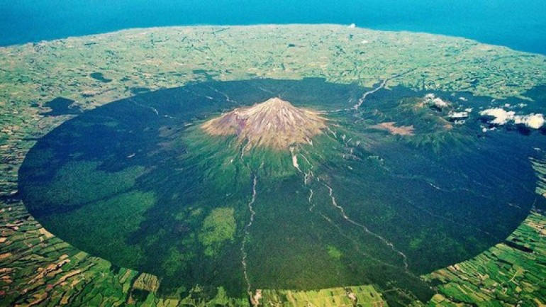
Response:
[{"label": "bright blue sea beyond the far coastline", "polygon": [[124,28],[355,23],[546,54],[545,0],[0,0],[0,45]]}]

